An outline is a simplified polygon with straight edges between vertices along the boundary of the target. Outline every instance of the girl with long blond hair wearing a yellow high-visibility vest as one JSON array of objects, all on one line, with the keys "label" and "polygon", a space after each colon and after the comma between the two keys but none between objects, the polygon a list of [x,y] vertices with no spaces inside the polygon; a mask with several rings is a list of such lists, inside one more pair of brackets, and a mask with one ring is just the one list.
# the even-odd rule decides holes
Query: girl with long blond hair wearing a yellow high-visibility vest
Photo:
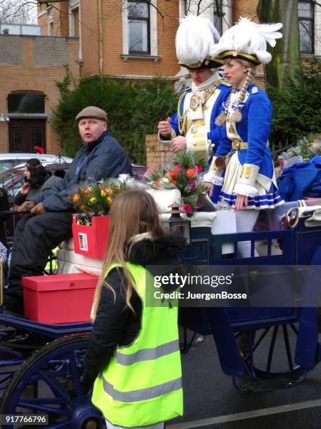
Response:
[{"label": "girl with long blond hair wearing a yellow high-visibility vest", "polygon": [[184,247],[164,231],[148,193],[115,198],[83,376],[84,393],[96,379],[92,402],[108,429],[164,428],[183,413],[177,307],[148,305],[146,279],[150,265],[172,265]]}]

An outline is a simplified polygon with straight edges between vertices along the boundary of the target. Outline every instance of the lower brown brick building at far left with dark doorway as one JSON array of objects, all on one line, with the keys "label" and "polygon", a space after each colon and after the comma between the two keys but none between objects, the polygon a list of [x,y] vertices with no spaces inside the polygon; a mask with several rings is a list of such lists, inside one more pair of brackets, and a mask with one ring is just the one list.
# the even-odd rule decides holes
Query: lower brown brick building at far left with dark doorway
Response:
[{"label": "lower brown brick building at far left with dark doorway", "polygon": [[56,82],[67,69],[79,79],[78,39],[32,35],[40,34],[37,26],[7,27],[8,34],[0,34],[0,151],[41,146],[61,154],[50,113],[59,99]]}]

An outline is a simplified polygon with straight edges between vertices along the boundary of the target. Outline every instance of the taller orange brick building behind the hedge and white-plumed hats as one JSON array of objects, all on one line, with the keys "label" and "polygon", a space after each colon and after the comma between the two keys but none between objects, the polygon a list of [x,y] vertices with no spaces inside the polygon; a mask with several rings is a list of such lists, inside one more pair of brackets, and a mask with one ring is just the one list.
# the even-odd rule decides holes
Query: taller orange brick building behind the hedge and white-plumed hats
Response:
[{"label": "taller orange brick building behind the hedge and white-plumed hats", "polygon": [[[204,15],[215,22],[215,2],[203,2]],[[215,22],[220,32],[241,15],[257,20],[257,0],[221,3],[224,19]],[[178,18],[187,12],[187,4],[190,12],[195,12],[193,7],[197,2],[193,5],[193,0],[150,0],[148,7],[138,5],[139,10],[131,0],[69,0],[39,6],[38,25],[43,35],[79,37],[80,78],[101,75],[128,80],[163,76],[179,88],[186,84],[189,75],[178,66],[175,35]],[[142,39],[145,37],[145,46],[143,40],[137,50],[132,44],[135,31],[143,34]],[[264,88],[262,67],[257,82]],[[152,148],[155,149],[155,144]],[[160,153],[162,150],[159,148]]]}]

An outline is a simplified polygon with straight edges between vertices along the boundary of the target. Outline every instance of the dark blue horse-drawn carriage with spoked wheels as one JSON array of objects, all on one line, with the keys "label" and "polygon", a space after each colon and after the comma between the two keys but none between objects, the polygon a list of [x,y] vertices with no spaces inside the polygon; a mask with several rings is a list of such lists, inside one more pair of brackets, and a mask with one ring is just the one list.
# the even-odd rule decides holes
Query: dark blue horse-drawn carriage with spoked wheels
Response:
[{"label": "dark blue horse-drawn carriage with spoked wheels", "polygon": [[[308,266],[317,265],[321,255],[321,227],[307,228],[301,221],[294,229],[221,235],[213,235],[210,226],[201,226],[191,229],[190,238],[183,261],[191,265]],[[240,259],[237,243],[244,240],[251,240],[252,257]],[[259,240],[264,240],[266,252],[254,257]],[[282,250],[273,254],[276,240]],[[222,254],[224,243],[232,243],[228,258]],[[316,306],[315,301],[314,306],[301,307],[291,303],[262,308],[181,308],[183,351],[188,348],[187,329],[213,334],[222,371],[232,376],[237,388],[290,386],[303,380],[321,358]],[[0,325],[0,414],[8,416],[3,428],[13,427],[12,415],[21,417],[15,427],[23,427],[28,421],[23,418],[46,415],[49,428],[100,428],[101,415],[90,403],[90,396],[83,395],[80,384],[90,323],[49,325],[3,310]],[[241,353],[238,336],[248,340]]]}]

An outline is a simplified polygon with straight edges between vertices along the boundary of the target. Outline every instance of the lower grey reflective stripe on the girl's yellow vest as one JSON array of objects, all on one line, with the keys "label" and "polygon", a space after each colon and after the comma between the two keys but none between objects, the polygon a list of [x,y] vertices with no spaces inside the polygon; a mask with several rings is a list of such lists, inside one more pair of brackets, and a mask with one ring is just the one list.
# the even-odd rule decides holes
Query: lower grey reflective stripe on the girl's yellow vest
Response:
[{"label": "lower grey reflective stripe on the girl's yellow vest", "polygon": [[103,381],[103,387],[105,393],[110,395],[113,400],[120,402],[138,402],[152,399],[154,397],[166,395],[171,393],[174,390],[182,388],[182,379],[181,377],[176,380],[168,381],[167,383],[159,384],[152,388],[140,389],[140,390],[130,390],[129,392],[120,392],[115,390],[114,386],[104,379],[104,376],[100,373],[98,376],[99,379]]}]

